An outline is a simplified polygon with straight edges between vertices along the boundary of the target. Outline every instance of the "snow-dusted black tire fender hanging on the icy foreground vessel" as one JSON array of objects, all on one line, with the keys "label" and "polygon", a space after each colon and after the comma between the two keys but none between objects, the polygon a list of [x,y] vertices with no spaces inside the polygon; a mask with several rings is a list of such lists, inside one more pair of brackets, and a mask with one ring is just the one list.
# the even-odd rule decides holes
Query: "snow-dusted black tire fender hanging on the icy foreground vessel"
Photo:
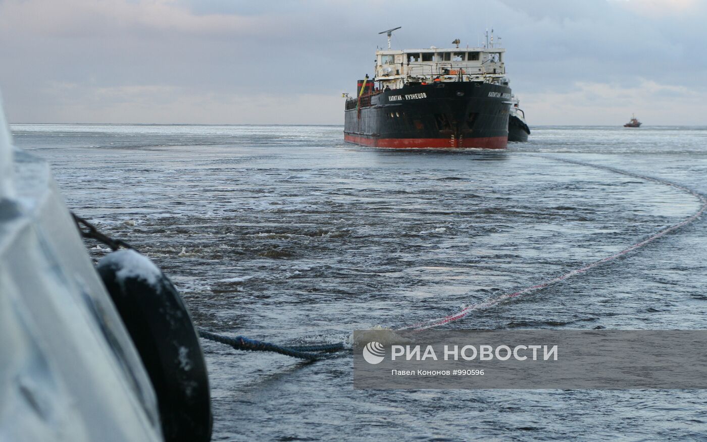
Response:
[{"label": "snow-dusted black tire fender hanging on the icy foreground vessel", "polygon": [[209,441],[209,376],[179,292],[160,268],[132,249],[108,254],[96,270],[150,376],[165,441]]}]

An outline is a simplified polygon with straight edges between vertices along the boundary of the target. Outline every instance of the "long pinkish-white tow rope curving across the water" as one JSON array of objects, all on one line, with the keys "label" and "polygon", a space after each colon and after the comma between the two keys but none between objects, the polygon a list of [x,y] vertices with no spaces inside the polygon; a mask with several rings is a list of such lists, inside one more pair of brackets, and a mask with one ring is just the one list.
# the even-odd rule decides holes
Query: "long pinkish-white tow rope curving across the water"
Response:
[{"label": "long pinkish-white tow rope curving across the water", "polygon": [[587,265],[583,265],[583,267],[575,268],[574,270],[571,270],[563,275],[560,275],[558,277],[554,277],[551,280],[547,280],[547,281],[542,282],[540,284],[526,287],[525,289],[520,289],[517,292],[501,294],[498,297],[486,299],[486,301],[482,301],[477,304],[469,304],[467,306],[464,306],[461,310],[459,310],[455,313],[452,313],[448,316],[443,316],[441,318],[428,319],[428,320],[422,321],[420,323],[404,326],[402,328],[399,328],[398,330],[427,330],[429,328],[439,327],[440,325],[445,325],[445,324],[448,324],[448,323],[451,323],[454,321],[459,321],[460,319],[464,318],[464,316],[467,316],[472,311],[477,311],[477,310],[481,310],[481,309],[488,309],[489,307],[495,306],[496,304],[499,304],[502,301],[506,301],[506,299],[513,299],[516,297],[520,297],[520,295],[522,295],[522,294],[534,292],[535,290],[539,290],[539,289],[544,289],[545,287],[548,287],[549,285],[553,285],[556,282],[566,280],[566,279],[573,277],[575,275],[579,275],[580,273],[585,273],[587,270],[597,267],[597,265],[602,265],[602,264],[607,263],[609,261],[614,261],[614,259],[620,258],[621,256],[624,256],[631,251],[634,251],[640,247],[643,247],[646,244],[650,244],[651,242],[655,241],[656,239],[663,237],[666,234],[669,234],[670,232],[673,232],[674,230],[679,229],[680,227],[684,227],[684,226],[688,225],[689,223],[691,223],[694,220],[696,220],[697,218],[699,218],[705,212],[705,210],[707,210],[707,198],[705,198],[705,196],[703,196],[701,193],[698,193],[692,189],[689,189],[686,186],[680,186],[679,184],[672,183],[671,181],[666,181],[665,179],[647,177],[645,175],[636,174],[633,172],[627,172],[627,171],[621,170],[621,169],[615,169],[614,167],[592,165],[588,162],[566,160],[566,159],[557,158],[557,157],[547,157],[545,155],[539,155],[539,156],[543,157],[543,158],[547,158],[549,160],[556,160],[556,161],[566,162],[566,163],[570,163],[573,165],[580,165],[580,166],[585,166],[585,167],[593,167],[595,169],[604,169],[604,170],[608,170],[609,172],[614,172],[617,174],[625,175],[626,177],[634,177],[634,178],[638,178],[638,179],[643,179],[645,181],[653,181],[655,183],[664,184],[665,186],[670,186],[674,189],[678,189],[678,190],[684,191],[686,193],[689,193],[691,196],[694,196],[695,198],[697,198],[700,201],[701,206],[700,206],[699,210],[697,210],[693,215],[686,217],[681,222],[678,222],[677,224],[665,227],[664,229],[661,229],[658,232],[655,232],[654,234],[650,235],[650,237],[643,239],[643,241],[637,242],[636,244],[626,247],[626,249],[621,250],[618,253],[614,253],[612,256],[607,256],[605,258],[601,258],[601,259],[594,261],[592,263],[589,263]]}]

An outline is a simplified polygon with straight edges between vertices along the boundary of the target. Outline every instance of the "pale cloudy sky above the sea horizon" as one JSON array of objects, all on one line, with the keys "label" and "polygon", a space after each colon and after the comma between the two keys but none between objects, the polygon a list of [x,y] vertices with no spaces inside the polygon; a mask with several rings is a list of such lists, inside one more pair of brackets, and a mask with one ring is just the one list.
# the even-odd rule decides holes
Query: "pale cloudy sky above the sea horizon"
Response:
[{"label": "pale cloudy sky above the sea horizon", "polygon": [[705,0],[0,0],[13,123],[343,124],[393,47],[496,30],[531,125],[707,124]]}]

